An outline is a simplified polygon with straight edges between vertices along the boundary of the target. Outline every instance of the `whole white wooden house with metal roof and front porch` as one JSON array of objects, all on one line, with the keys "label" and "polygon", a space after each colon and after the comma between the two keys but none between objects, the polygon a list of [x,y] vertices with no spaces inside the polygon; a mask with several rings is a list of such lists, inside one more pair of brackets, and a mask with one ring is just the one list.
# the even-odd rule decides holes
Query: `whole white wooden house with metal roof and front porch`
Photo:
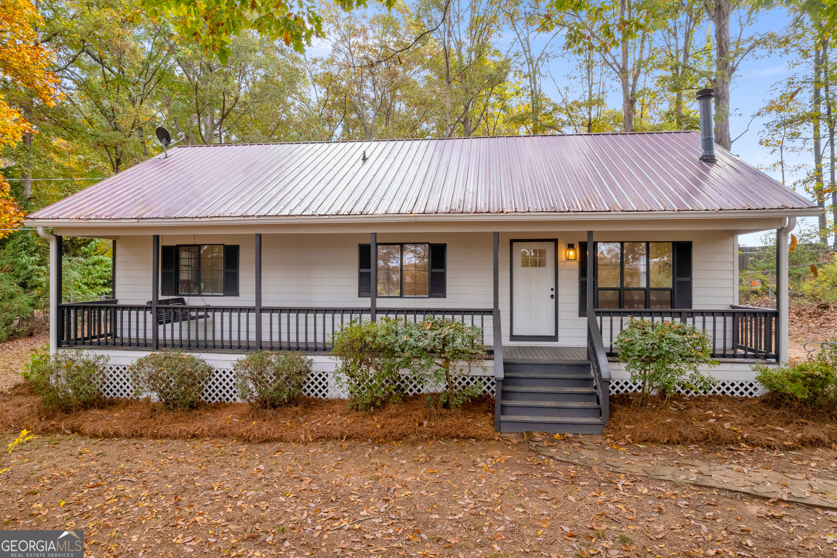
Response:
[{"label": "whole white wooden house with metal roof and front porch", "polygon": [[[498,430],[593,433],[633,389],[611,346],[630,315],[709,330],[718,392],[787,360],[788,232],[820,209],[711,159],[694,132],[178,146],[26,223],[53,238],[51,346],[107,352],[111,395],[174,347],[234,399],[230,362],[261,347],[311,353],[306,393],[330,397],[341,324],[444,313],[485,327]],[[778,310],[738,306],[737,235],[766,230]],[[67,236],[114,241],[114,300],[59,299]]]}]

